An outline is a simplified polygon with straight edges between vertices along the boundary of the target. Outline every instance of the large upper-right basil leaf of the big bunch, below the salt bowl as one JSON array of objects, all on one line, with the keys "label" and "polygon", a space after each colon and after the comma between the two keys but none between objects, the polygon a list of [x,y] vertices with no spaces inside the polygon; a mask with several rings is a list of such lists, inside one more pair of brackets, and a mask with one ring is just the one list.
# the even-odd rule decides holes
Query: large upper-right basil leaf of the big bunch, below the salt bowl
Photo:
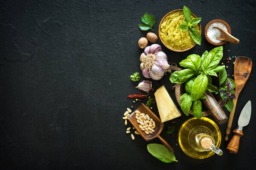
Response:
[{"label": "large upper-right basil leaf of the big bunch, below the salt bowl", "polygon": [[218,63],[220,62],[221,58],[223,56],[223,47],[216,47],[213,48],[206,57],[204,57],[204,60],[202,60],[202,65],[205,70],[209,70],[209,68],[214,68]]}]

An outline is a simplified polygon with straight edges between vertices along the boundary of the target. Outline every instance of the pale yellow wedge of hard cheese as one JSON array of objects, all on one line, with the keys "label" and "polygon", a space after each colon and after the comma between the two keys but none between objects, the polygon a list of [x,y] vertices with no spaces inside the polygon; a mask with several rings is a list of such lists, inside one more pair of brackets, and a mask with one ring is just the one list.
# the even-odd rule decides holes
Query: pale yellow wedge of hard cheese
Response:
[{"label": "pale yellow wedge of hard cheese", "polygon": [[164,85],[158,88],[154,95],[162,122],[166,122],[181,116],[180,111],[172,101],[172,98],[170,97]]}]

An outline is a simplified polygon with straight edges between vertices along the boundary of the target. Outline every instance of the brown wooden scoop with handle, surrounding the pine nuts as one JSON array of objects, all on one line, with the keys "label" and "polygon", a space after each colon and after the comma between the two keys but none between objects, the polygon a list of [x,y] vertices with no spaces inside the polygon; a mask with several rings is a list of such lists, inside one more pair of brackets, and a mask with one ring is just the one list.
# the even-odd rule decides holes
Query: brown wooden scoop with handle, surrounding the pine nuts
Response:
[{"label": "brown wooden scoop with handle, surrounding the pine nuts", "polygon": [[143,137],[143,139],[145,139],[145,141],[150,141],[152,139],[158,138],[163,145],[165,145],[172,153],[174,153],[174,150],[172,149],[172,147],[166,142],[166,140],[164,140],[161,136],[160,133],[163,130],[163,123],[161,122],[161,120],[149,109],[147,108],[143,103],[140,104],[140,106],[136,109],[137,111],[140,111],[140,113],[145,113],[148,114],[148,116],[153,119],[156,123],[156,127],[154,128],[154,133],[152,134],[146,134],[144,133],[144,131],[142,131],[139,127],[140,124],[138,124],[137,119],[135,118],[136,113],[133,112],[128,116],[128,120],[131,123],[131,125],[133,125],[133,127],[140,133],[140,136]]}]

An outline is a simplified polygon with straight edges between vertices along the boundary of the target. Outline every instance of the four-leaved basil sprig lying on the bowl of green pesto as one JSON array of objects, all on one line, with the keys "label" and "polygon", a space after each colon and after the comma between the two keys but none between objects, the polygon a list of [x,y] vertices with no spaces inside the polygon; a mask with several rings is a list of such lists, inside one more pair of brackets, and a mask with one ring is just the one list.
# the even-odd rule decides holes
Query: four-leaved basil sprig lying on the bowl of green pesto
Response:
[{"label": "four-leaved basil sprig lying on the bowl of green pesto", "polygon": [[191,20],[191,11],[186,6],[183,6],[183,13],[185,15],[186,20],[184,21],[183,24],[181,24],[179,26],[179,28],[182,29],[183,31],[189,30],[189,34],[192,37],[192,39],[195,41],[195,43],[201,45],[201,35],[197,31],[197,29],[193,26],[197,25],[201,21],[202,18],[201,17],[194,18]]}]

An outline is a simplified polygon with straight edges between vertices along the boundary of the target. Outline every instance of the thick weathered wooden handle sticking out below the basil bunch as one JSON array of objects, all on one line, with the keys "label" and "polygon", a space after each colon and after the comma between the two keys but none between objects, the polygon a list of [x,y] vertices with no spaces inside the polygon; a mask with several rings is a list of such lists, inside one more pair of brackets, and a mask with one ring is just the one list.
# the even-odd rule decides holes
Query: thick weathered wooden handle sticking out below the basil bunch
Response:
[{"label": "thick weathered wooden handle sticking out below the basil bunch", "polygon": [[218,104],[214,96],[212,95],[211,92],[206,91],[204,93],[206,96],[205,99],[203,99],[204,105],[209,109],[209,111],[212,112],[212,116],[214,119],[218,122],[218,124],[222,125],[227,122],[227,116],[222,110],[221,106]]}]

